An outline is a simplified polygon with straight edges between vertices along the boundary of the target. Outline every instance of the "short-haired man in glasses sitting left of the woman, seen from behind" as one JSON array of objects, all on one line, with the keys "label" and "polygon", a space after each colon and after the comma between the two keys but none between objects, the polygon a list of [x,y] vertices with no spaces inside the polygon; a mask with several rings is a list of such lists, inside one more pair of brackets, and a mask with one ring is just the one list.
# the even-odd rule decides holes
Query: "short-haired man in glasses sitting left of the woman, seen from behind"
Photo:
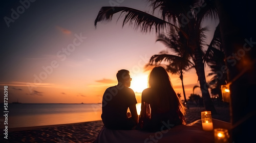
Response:
[{"label": "short-haired man in glasses sitting left of the woman, seen from behind", "polygon": [[[116,77],[118,84],[109,87],[103,94],[101,118],[106,128],[131,130],[138,123],[135,93],[129,88],[132,79],[125,69],[119,70]],[[131,117],[127,116],[128,108]]]}]

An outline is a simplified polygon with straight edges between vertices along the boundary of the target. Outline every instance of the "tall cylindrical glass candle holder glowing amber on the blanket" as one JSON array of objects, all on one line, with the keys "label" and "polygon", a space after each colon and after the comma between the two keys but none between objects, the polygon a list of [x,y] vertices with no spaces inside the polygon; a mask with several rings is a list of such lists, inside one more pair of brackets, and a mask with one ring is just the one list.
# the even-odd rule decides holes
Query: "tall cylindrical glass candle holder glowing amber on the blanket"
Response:
[{"label": "tall cylindrical glass candle holder glowing amber on the blanket", "polygon": [[214,126],[212,125],[211,120],[211,112],[210,111],[203,111],[201,112],[202,117],[202,126],[204,131],[212,131]]}]

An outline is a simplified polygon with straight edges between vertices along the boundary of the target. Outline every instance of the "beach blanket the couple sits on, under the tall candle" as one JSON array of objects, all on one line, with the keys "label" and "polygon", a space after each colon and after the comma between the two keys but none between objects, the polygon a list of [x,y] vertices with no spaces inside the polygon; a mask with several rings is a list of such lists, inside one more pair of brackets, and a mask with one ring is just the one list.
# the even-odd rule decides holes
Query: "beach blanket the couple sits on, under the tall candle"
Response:
[{"label": "beach blanket the couple sits on, under the tall candle", "polygon": [[[214,128],[230,127],[230,123],[213,119]],[[165,126],[168,126],[167,124]],[[203,131],[201,120],[188,125],[179,125],[155,133],[140,130],[110,130],[104,126],[94,143],[113,142],[214,142],[214,131]]]}]

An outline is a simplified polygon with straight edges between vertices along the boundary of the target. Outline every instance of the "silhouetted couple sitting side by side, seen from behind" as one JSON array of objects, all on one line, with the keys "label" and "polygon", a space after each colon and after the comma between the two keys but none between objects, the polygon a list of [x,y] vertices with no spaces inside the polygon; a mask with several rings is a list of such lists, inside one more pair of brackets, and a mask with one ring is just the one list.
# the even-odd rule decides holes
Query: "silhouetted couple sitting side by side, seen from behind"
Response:
[{"label": "silhouetted couple sitting side by side, seen from behind", "polygon": [[[143,90],[141,95],[139,119],[135,93],[129,88],[132,80],[129,71],[119,70],[116,76],[118,84],[106,89],[102,100],[101,118],[106,128],[114,130],[136,128],[155,132],[168,128],[163,125],[185,124],[184,107],[163,67],[155,67],[150,73],[149,88]],[[131,116],[127,114],[128,108]]]}]

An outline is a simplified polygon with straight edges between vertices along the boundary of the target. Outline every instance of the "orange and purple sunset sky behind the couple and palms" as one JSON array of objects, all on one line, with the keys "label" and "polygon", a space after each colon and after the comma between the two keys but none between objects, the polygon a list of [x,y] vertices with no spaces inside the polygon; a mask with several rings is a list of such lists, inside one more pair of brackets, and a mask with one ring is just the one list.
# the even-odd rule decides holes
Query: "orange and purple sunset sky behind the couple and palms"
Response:
[{"label": "orange and purple sunset sky behind the couple and palms", "polygon": [[[12,13],[20,2],[1,3],[0,91],[4,94],[8,86],[9,103],[100,103],[105,89],[117,84],[119,69],[130,70],[131,88],[140,102],[150,72],[144,65],[166,50],[154,32],[122,28],[119,14],[95,28],[100,8],[111,6],[109,1],[35,1],[18,16]],[[147,1],[122,1],[117,6],[150,12]],[[9,23],[3,18],[12,16],[16,19]],[[208,43],[217,24],[205,22]],[[170,79],[183,99],[180,79]],[[199,85],[194,69],[185,73],[184,84],[188,97]],[[201,94],[199,89],[196,93]]]}]

